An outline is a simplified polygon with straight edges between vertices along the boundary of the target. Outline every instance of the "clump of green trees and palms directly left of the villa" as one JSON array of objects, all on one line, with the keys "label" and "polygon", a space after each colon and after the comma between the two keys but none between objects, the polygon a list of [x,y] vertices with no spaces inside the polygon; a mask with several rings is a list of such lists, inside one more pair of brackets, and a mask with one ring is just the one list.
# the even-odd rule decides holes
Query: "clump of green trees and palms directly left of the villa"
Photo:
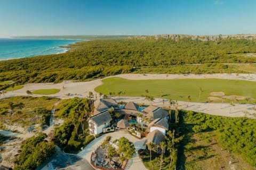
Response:
[{"label": "clump of green trees and palms directly left of the villa", "polygon": [[55,128],[55,143],[67,152],[77,152],[94,139],[89,135],[87,118],[91,115],[93,108],[89,99],[67,99],[62,100],[56,108],[55,116],[63,118],[65,122]]}]

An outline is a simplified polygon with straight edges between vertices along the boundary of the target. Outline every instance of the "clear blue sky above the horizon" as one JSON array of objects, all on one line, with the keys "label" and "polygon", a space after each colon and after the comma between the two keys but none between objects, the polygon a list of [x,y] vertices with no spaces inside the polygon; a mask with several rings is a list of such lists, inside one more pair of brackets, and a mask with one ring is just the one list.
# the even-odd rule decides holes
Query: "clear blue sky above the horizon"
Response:
[{"label": "clear blue sky above the horizon", "polygon": [[256,0],[0,0],[0,37],[256,33]]}]

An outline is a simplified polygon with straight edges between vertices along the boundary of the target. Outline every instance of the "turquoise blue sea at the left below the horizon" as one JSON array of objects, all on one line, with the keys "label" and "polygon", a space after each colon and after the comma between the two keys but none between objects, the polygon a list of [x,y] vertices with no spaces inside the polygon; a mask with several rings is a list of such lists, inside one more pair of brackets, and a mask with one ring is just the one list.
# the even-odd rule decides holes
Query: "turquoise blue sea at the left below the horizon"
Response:
[{"label": "turquoise blue sea at the left below the horizon", "polygon": [[61,46],[79,41],[85,40],[0,38],[0,60],[65,53],[69,48]]}]

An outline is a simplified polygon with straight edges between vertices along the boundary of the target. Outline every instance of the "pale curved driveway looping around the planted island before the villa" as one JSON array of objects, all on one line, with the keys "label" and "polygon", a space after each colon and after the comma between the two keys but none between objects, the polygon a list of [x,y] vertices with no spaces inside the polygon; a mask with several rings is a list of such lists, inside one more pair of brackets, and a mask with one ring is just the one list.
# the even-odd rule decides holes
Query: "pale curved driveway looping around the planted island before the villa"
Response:
[{"label": "pale curved driveway looping around the planted island before the villa", "polygon": [[[125,168],[126,170],[146,170],[147,168],[143,165],[142,161],[139,158],[138,150],[145,149],[143,143],[145,139],[137,139],[133,137],[126,131],[117,131],[112,133],[107,133],[99,138],[96,138],[92,142],[89,143],[79,154],[65,154],[57,147],[58,156],[55,157],[51,162],[45,165],[42,170],[52,170],[55,168],[58,169],[74,169],[74,170],[92,170],[94,168],[90,165],[91,153],[98,148],[101,143],[106,139],[107,136],[111,136],[111,141],[115,139],[119,139],[121,137],[127,138],[129,141],[133,142],[134,147],[136,149],[136,154],[133,155],[133,158],[129,160],[128,166]],[[69,165],[69,166],[68,166]]]}]

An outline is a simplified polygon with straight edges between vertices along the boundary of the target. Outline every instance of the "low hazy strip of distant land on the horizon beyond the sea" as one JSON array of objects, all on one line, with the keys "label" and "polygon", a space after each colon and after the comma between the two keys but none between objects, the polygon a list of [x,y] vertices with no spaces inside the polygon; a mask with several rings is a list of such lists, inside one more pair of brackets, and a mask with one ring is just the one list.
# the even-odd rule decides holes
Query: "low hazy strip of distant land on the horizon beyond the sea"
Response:
[{"label": "low hazy strip of distant land on the horizon beyond the sea", "polygon": [[12,38],[23,38],[23,39],[123,39],[129,36],[91,36],[91,35],[80,35],[80,36],[15,36]]}]

